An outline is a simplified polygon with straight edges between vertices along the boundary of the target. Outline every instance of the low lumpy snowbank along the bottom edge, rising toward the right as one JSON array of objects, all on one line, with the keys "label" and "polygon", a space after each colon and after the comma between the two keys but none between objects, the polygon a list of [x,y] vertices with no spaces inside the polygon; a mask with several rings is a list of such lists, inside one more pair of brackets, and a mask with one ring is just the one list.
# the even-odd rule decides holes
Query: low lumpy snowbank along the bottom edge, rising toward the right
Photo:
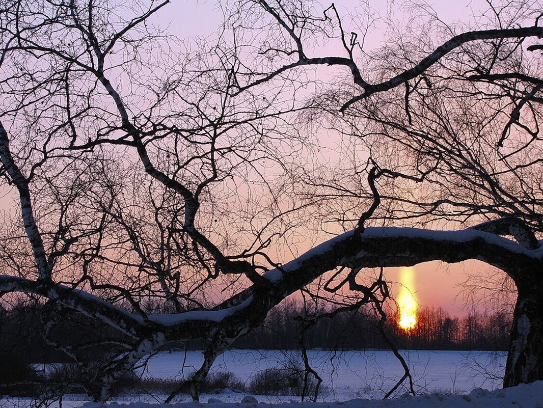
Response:
[{"label": "low lumpy snowbank along the bottom edge, rising toward the right", "polygon": [[[210,398],[207,403],[110,403],[108,408],[500,408],[516,406],[519,408],[543,408],[543,381],[533,384],[522,384],[504,390],[482,390],[476,388],[466,395],[426,394],[418,397],[405,396],[387,400],[352,399],[350,401],[335,403],[258,403],[255,398],[246,397],[242,403],[223,403]],[[81,408],[101,408],[99,403],[85,403]]]}]

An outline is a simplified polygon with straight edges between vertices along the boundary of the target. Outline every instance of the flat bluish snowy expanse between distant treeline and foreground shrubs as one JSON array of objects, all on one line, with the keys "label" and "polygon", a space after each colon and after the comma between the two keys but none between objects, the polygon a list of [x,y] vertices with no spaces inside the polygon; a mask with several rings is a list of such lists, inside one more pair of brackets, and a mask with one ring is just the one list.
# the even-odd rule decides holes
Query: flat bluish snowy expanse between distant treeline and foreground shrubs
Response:
[{"label": "flat bluish snowy expanse between distant treeline and foreground shrubs", "polygon": [[[505,352],[401,350],[415,381],[415,391],[466,393],[473,388],[501,387]],[[401,378],[403,369],[391,351],[332,352],[308,350],[312,367],[323,378],[325,401],[382,398]],[[167,351],[150,357],[138,369],[143,377],[187,378],[203,360],[200,351]],[[299,361],[296,350],[229,350],[212,371],[230,371],[249,384],[251,376],[285,361]],[[399,390],[403,394],[407,390]],[[274,398],[274,397],[270,397]],[[228,398],[227,398],[228,399]]]}]

